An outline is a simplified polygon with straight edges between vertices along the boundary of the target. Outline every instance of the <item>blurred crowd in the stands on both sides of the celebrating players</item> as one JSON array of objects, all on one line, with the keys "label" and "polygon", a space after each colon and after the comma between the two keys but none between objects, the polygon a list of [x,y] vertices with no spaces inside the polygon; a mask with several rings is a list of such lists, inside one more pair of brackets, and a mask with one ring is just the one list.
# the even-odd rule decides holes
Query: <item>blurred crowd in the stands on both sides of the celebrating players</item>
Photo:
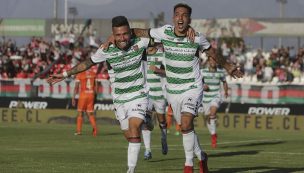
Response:
[{"label": "blurred crowd in the stands on both sides of the celebrating players", "polygon": [[[211,40],[221,56],[237,64],[244,72],[244,81],[304,81],[304,48],[276,47],[270,52],[247,49],[242,39]],[[78,37],[58,33],[52,40],[32,37],[27,45],[17,47],[12,39],[0,40],[0,79],[40,78],[70,69],[90,57],[101,44],[94,33]],[[206,58],[202,56],[202,67]],[[108,79],[105,64],[98,66],[98,79]]]}]

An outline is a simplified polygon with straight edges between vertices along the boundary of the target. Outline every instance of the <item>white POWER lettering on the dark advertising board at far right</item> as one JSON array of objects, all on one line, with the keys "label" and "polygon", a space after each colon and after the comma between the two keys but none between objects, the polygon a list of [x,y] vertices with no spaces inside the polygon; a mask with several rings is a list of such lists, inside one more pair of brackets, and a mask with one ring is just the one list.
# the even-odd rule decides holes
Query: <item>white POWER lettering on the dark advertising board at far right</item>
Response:
[{"label": "white POWER lettering on the dark advertising board at far right", "polygon": [[249,107],[249,115],[289,115],[290,108],[286,107]]}]

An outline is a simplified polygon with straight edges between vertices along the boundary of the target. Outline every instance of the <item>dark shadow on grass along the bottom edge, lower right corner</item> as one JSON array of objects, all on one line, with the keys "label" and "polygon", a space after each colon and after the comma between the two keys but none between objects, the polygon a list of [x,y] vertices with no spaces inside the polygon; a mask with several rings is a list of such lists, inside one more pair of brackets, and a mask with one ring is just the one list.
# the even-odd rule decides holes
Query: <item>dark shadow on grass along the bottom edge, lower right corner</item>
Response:
[{"label": "dark shadow on grass along the bottom edge, lower right corner", "polygon": [[304,168],[280,168],[280,167],[248,167],[248,168],[222,168],[210,173],[238,173],[238,172],[259,172],[259,173],[292,173],[304,171]]}]

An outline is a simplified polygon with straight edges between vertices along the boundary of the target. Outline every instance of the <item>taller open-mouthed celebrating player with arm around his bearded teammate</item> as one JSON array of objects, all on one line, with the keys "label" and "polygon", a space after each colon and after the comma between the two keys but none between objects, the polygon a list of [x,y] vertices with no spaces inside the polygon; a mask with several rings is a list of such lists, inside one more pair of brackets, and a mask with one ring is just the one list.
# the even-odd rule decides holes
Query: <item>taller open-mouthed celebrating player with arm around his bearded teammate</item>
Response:
[{"label": "taller open-mouthed celebrating player with arm around his bearded teammate", "polygon": [[200,173],[207,173],[207,155],[202,152],[194,131],[193,120],[203,96],[203,84],[199,68],[198,51],[206,52],[208,57],[222,65],[233,77],[242,77],[238,68],[227,62],[210,46],[203,34],[197,33],[189,40],[187,33],[191,23],[192,8],[187,4],[174,6],[174,26],[165,25],[152,29],[133,29],[136,36],[152,37],[160,40],[165,50],[165,69],[167,78],[167,100],[172,105],[174,117],[181,124],[185,151],[184,173],[193,172],[194,153],[199,159]]}]

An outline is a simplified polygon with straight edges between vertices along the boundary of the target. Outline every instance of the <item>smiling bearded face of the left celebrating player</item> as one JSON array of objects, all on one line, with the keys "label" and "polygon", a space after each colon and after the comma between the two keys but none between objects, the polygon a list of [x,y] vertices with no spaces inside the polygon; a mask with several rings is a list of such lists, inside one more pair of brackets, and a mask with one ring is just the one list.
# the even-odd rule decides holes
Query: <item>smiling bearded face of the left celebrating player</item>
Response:
[{"label": "smiling bearded face of the left celebrating player", "polygon": [[112,28],[115,45],[119,49],[128,49],[131,40],[131,32],[129,26],[120,26],[120,27],[113,27]]}]

